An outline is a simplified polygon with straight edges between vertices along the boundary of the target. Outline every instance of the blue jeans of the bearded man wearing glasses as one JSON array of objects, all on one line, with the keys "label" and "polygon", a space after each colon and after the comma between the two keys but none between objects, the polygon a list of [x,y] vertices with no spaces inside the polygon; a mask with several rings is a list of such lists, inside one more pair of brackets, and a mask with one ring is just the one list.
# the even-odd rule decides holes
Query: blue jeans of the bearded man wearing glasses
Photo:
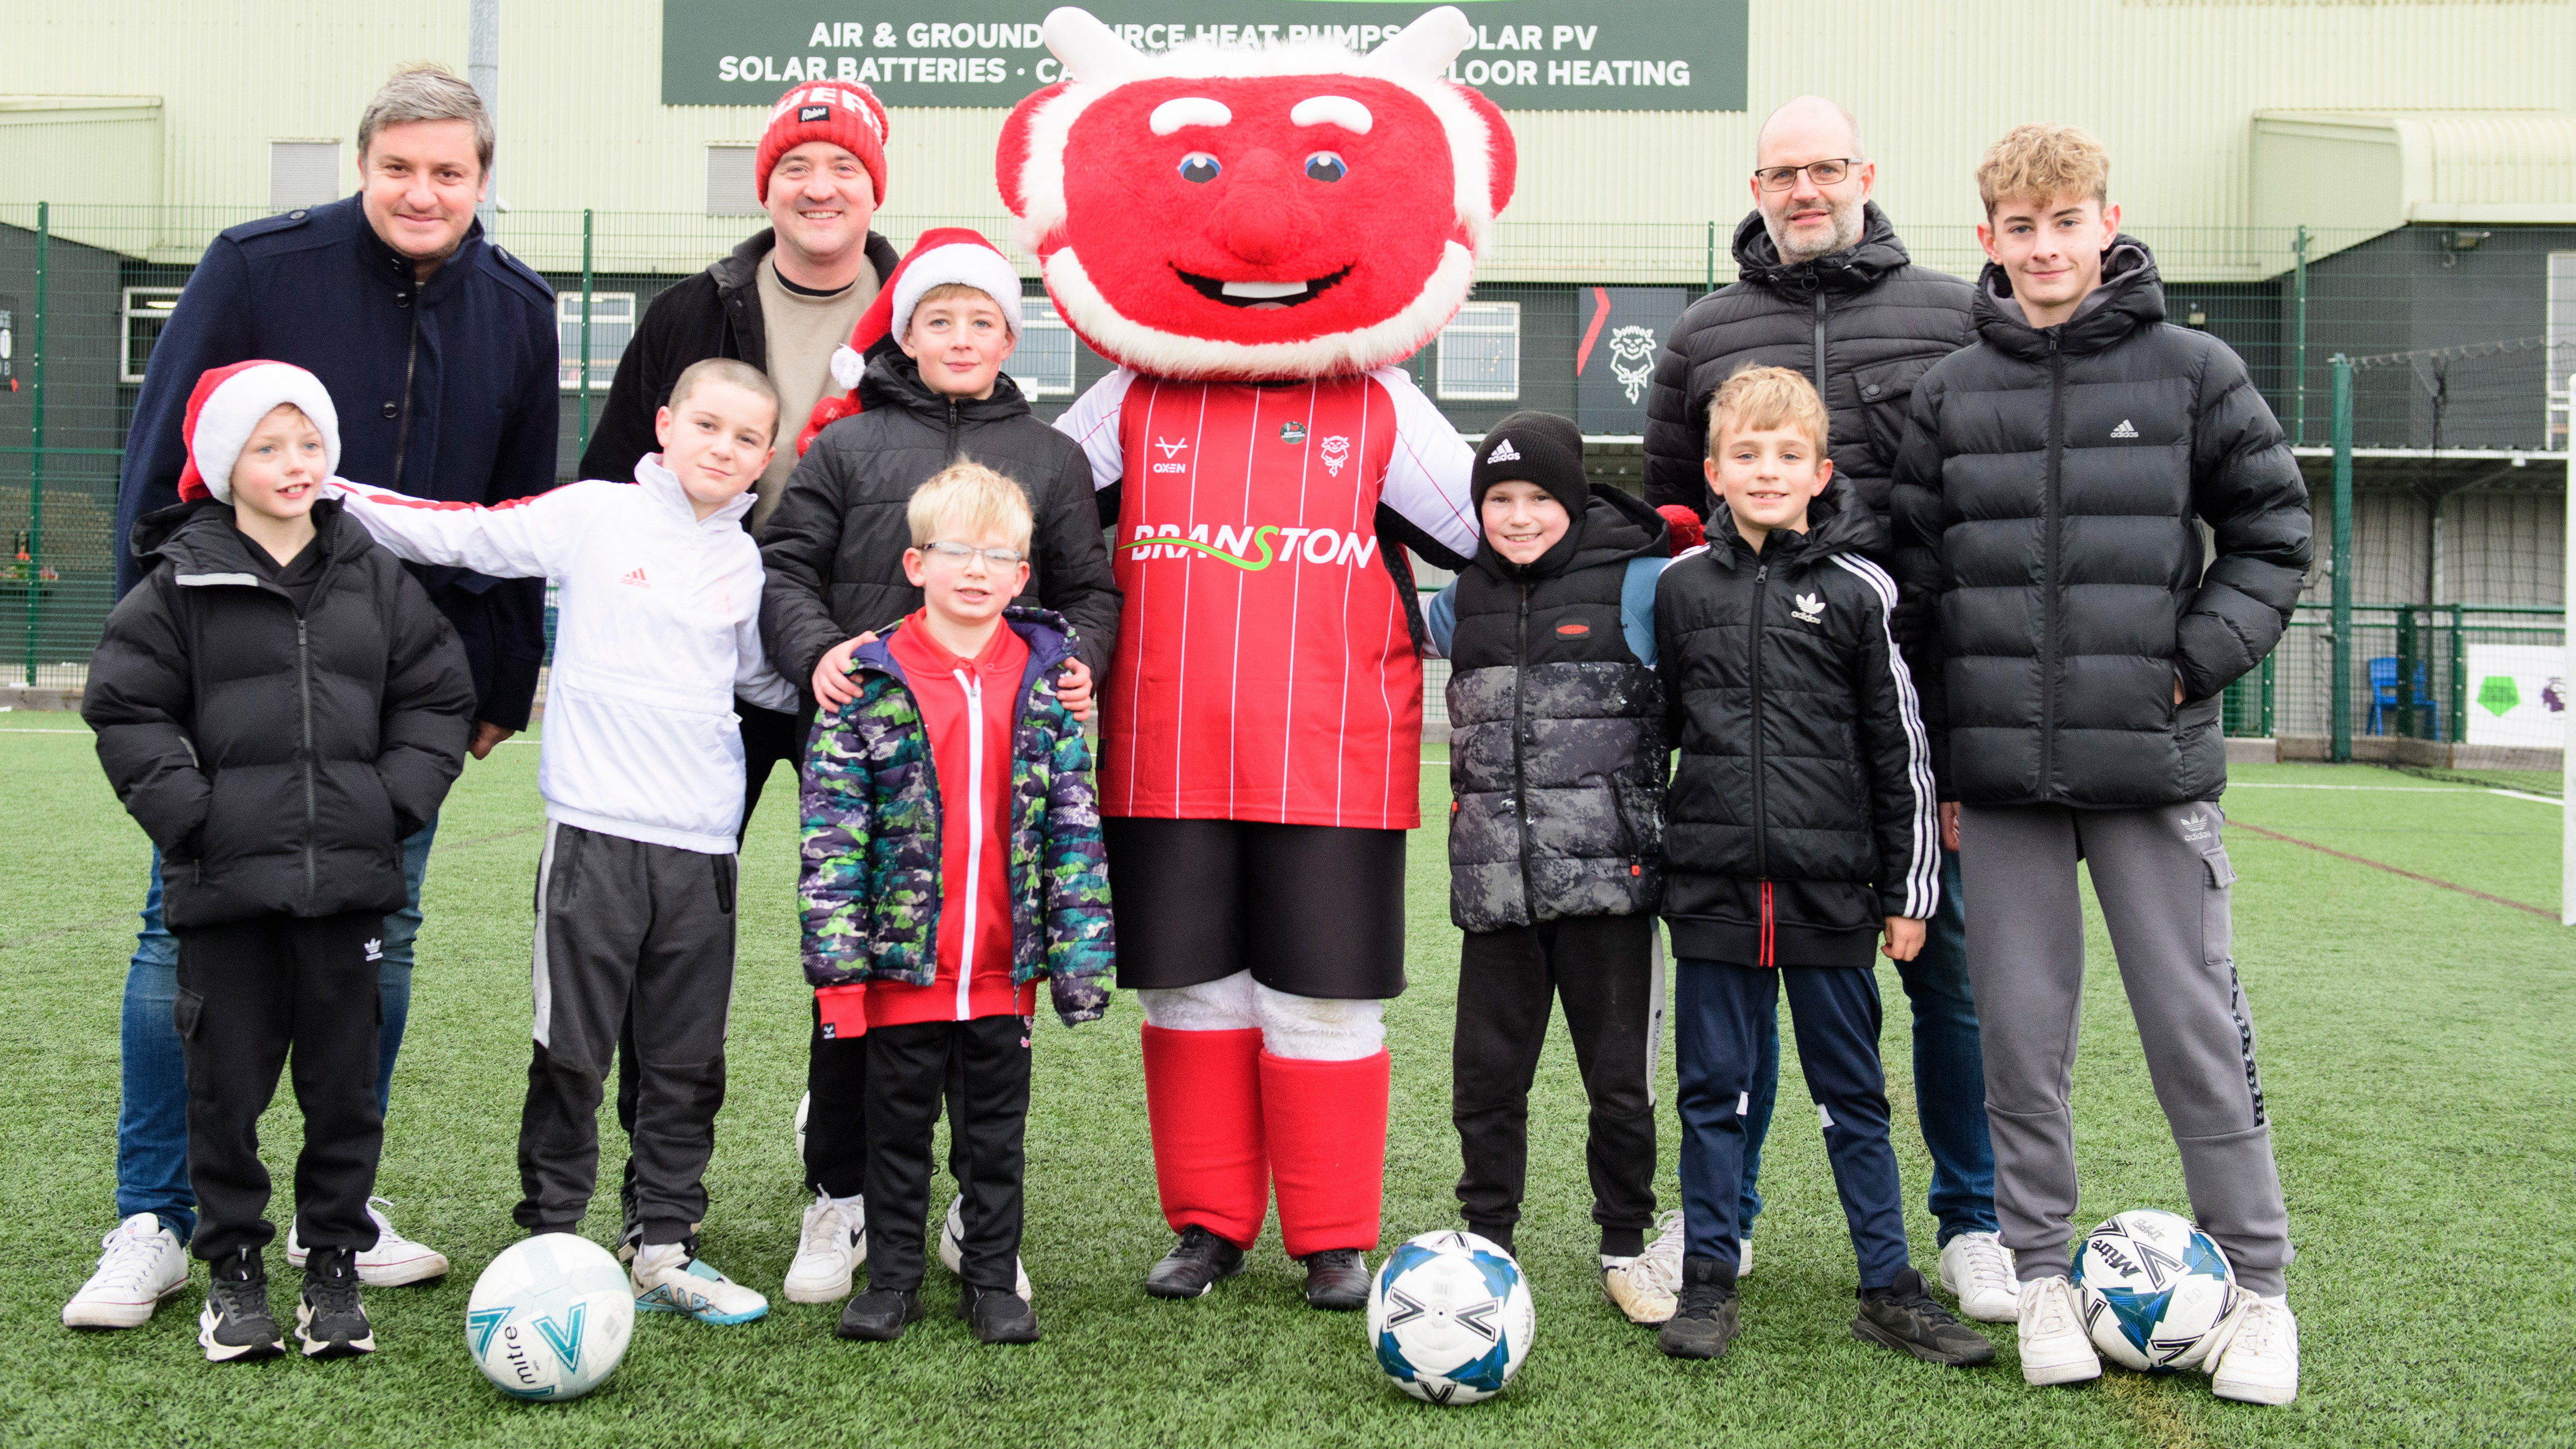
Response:
[{"label": "blue jeans of the bearded man wearing glasses", "polygon": [[[1940,852],[1940,914],[1924,932],[1924,950],[1896,963],[1896,978],[1914,1006],[1914,1117],[1932,1153],[1932,1192],[1924,1207],[1940,1223],[1940,1243],[1960,1233],[1994,1233],[1994,1145],[1986,1140],[1986,1055],[1976,1042],[1976,996],[1968,991],[1968,906],[1958,883],[1958,852]],[[1754,1176],[1762,1171],[1762,1135],[1770,1132],[1780,1094],[1780,1024],[1759,1022],[1762,1060],[1754,1071],[1752,1112],[1744,1122],[1744,1194],[1739,1220],[1752,1233],[1762,1212]]]}]

